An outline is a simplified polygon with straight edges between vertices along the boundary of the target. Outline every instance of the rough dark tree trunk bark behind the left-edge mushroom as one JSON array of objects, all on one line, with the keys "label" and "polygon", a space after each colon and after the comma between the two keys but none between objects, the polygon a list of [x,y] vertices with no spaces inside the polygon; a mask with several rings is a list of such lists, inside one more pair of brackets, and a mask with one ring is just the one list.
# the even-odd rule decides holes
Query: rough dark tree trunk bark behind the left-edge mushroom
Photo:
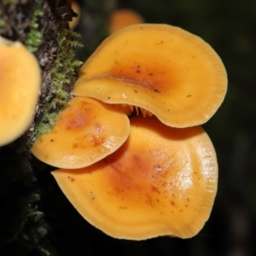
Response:
[{"label": "rough dark tree trunk bark behind the left-edge mushroom", "polygon": [[[66,0],[3,1],[0,9],[1,36],[25,44],[37,56],[42,69],[42,89],[34,121],[22,137],[0,148],[0,254],[54,255],[47,237],[50,228],[40,208],[41,193],[36,178],[38,170],[46,170],[48,166],[32,159],[30,144],[44,113],[56,113],[65,104],[62,99],[60,106],[49,108],[58,97],[52,89],[51,70],[55,67],[57,72],[62,72],[63,67],[56,67],[55,62],[61,55],[61,40],[73,40],[72,34],[65,34],[65,30],[68,31],[67,21],[72,20],[74,13]],[[67,97],[73,79],[74,70],[66,73],[62,90],[67,92]]]}]

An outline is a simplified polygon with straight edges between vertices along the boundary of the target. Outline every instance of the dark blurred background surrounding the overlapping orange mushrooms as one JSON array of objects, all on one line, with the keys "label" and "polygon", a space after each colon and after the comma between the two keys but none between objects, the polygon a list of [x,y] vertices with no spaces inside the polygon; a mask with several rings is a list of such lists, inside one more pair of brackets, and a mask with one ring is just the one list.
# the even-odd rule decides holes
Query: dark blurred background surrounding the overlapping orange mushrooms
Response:
[{"label": "dark blurred background surrounding the overlapping orange mushrooms", "polygon": [[212,215],[199,235],[188,240],[168,237],[148,241],[113,239],[87,224],[61,194],[53,177],[44,174],[38,179],[52,192],[45,193],[43,209],[52,226],[49,235],[59,253],[255,255],[256,2],[94,0],[79,3],[84,8],[84,16],[76,28],[82,34],[84,44],[84,50],[79,51],[79,59],[85,61],[106,36],[106,20],[111,10],[130,8],[137,10],[147,23],[180,26],[211,44],[224,62],[229,87],[221,108],[203,125],[218,155],[219,182]]}]

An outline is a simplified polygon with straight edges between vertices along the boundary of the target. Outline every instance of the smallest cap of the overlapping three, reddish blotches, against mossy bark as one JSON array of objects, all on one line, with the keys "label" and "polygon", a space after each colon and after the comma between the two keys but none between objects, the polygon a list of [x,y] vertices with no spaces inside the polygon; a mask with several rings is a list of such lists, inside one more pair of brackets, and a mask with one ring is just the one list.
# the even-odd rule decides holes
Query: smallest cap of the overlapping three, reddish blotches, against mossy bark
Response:
[{"label": "smallest cap of the overlapping three, reddish blotches, against mossy bark", "polygon": [[125,113],[95,99],[74,97],[50,133],[32,146],[32,154],[50,166],[81,168],[113,153],[127,139]]}]

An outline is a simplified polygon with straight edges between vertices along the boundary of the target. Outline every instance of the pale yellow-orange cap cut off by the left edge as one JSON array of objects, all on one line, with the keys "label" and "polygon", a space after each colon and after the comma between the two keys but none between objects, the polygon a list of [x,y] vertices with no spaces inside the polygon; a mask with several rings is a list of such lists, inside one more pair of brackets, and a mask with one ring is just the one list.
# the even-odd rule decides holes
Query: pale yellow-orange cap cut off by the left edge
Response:
[{"label": "pale yellow-orange cap cut off by the left edge", "polygon": [[0,146],[30,125],[38,102],[41,69],[20,42],[0,37]]}]

